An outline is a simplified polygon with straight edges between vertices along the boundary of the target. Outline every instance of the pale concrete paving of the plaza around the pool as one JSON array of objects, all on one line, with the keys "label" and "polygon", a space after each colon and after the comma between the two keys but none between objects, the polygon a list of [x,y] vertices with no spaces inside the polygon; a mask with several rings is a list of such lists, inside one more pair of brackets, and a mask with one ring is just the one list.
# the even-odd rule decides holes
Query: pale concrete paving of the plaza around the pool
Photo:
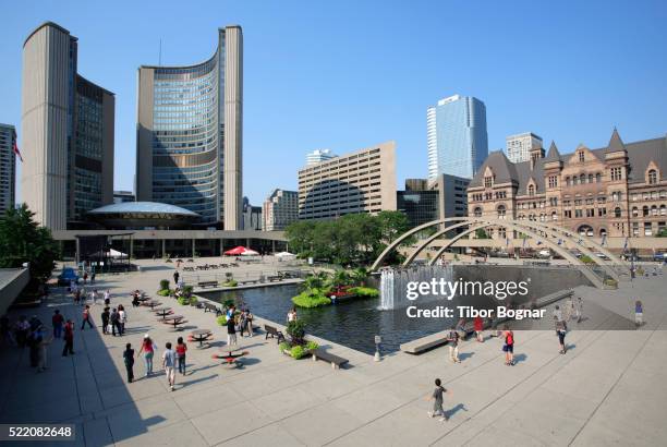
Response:
[{"label": "pale concrete paving of the plaza around the pool", "polygon": [[[447,348],[416,357],[398,352],[376,363],[369,355],[320,340],[350,360],[348,369],[335,371],[324,362],[294,361],[260,334],[240,338],[250,355],[242,367],[229,369],[211,359],[226,340],[214,314],[160,298],[189,321],[185,330],[173,333],[148,309],[132,307],[131,290],[154,295],[159,280],[173,274],[170,264],[141,264],[142,273],[97,278],[99,289],[111,289],[112,305],[123,303],[129,312],[124,337],[78,330],[81,309],[62,289],[35,311],[12,311],[12,318],[37,314],[50,323],[58,307],[75,318],[76,353],[62,358],[62,341],[54,340],[48,370],[37,374],[28,365],[27,349],[2,346],[0,422],[73,423],[76,445],[86,446],[650,446],[667,440],[663,276],[621,282],[615,291],[578,290],[586,303],[629,319],[633,299],[641,298],[646,321],[641,330],[574,327],[566,355],[558,353],[553,330],[518,331],[516,366],[504,365],[497,338],[463,342],[460,364],[447,360]],[[93,307],[99,324],[102,305]],[[195,326],[214,329],[213,346],[198,350],[189,345],[187,375],[177,376],[171,392],[157,359],[165,342],[175,342]],[[138,351],[146,333],[159,346],[158,374],[143,378],[143,361],[137,359],[138,379],[126,384],[124,343]],[[432,403],[425,397],[436,377],[451,390],[445,398],[448,422],[426,414]]]}]

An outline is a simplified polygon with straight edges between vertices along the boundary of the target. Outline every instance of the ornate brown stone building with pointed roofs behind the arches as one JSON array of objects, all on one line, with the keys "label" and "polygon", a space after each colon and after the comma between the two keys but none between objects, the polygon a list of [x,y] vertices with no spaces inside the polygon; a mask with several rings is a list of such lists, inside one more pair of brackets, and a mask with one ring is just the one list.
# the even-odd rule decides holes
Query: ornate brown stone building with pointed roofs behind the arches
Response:
[{"label": "ornate brown stone building with pointed roofs behind the arches", "polygon": [[468,204],[471,216],[550,222],[582,237],[667,234],[667,137],[623,143],[614,130],[605,147],[560,155],[551,143],[546,157],[538,147],[520,164],[493,152]]}]

